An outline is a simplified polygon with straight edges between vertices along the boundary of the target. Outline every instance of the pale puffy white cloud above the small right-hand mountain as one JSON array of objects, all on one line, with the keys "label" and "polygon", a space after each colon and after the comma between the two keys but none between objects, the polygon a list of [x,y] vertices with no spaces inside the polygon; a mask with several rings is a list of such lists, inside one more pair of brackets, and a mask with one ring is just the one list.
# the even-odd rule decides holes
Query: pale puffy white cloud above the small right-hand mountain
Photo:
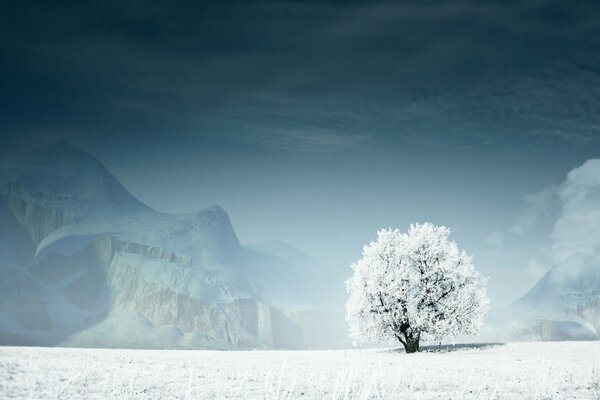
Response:
[{"label": "pale puffy white cloud above the small right-hand mountain", "polygon": [[560,214],[551,233],[555,259],[600,255],[600,159],[571,170],[558,190]]}]

